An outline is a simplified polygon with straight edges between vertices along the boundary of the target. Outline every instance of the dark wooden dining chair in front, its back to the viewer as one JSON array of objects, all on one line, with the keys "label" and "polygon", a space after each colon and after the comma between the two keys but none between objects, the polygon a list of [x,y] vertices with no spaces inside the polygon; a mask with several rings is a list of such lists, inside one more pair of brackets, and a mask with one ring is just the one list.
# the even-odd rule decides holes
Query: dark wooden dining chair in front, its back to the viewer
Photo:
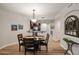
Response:
[{"label": "dark wooden dining chair in front, its back to the viewer", "polygon": [[33,54],[35,55],[36,53],[36,48],[37,48],[37,44],[35,42],[34,39],[27,39],[27,38],[23,38],[24,40],[24,47],[25,47],[25,55],[27,51],[31,51],[33,52]]}]

